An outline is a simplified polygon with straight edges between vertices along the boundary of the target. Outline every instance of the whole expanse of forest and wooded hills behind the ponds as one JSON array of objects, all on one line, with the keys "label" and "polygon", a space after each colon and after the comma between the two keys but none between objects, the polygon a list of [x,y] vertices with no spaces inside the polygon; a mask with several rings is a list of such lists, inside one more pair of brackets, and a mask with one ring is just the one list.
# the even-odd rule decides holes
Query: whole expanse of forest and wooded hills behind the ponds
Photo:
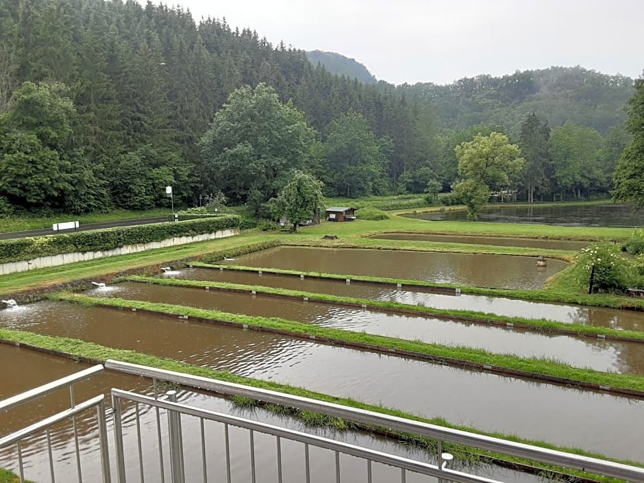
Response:
[{"label": "whole expanse of forest and wooded hills behind the ponds", "polygon": [[448,190],[454,147],[499,131],[544,154],[512,189],[604,195],[632,91],[580,68],[363,84],[178,7],[0,0],[0,216],[164,206],[168,185],[259,212],[293,169],[330,196]]}]

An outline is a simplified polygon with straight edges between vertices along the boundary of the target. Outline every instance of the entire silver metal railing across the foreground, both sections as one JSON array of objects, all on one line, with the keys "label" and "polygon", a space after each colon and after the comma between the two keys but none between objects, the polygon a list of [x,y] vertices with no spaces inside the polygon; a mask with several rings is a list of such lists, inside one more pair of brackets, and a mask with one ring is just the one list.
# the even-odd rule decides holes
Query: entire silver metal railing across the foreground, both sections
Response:
[{"label": "entire silver metal railing across the foreground, both sections", "polygon": [[[214,457],[219,458],[220,460],[223,459],[222,464],[225,467],[225,477],[224,471],[221,471],[220,467],[216,467],[217,474],[216,478],[213,480],[224,481],[225,478],[225,481],[230,483],[232,480],[231,467],[235,462],[239,462],[239,460],[232,460],[231,457],[232,440],[230,439],[230,435],[232,434],[232,431],[240,431],[237,428],[241,428],[241,430],[247,434],[245,436],[245,438],[247,438],[245,440],[246,443],[243,443],[242,449],[249,454],[250,457],[250,465],[247,468],[247,471],[249,471],[250,474],[249,478],[246,480],[252,483],[255,483],[258,475],[260,475],[258,472],[267,473],[267,471],[269,471],[266,461],[269,462],[268,466],[275,469],[278,483],[282,483],[283,474],[286,471],[293,471],[295,465],[300,465],[297,469],[304,471],[304,478],[299,481],[306,481],[309,483],[311,480],[313,465],[319,465],[319,461],[315,460],[310,454],[310,449],[312,448],[321,448],[327,451],[332,451],[334,465],[329,465],[327,469],[334,473],[334,479],[336,482],[340,482],[341,480],[347,481],[345,474],[346,468],[340,465],[340,456],[348,455],[352,458],[359,458],[359,460],[366,463],[364,467],[360,466],[360,471],[365,472],[364,480],[369,483],[371,483],[372,480],[373,464],[382,464],[394,467],[395,471],[399,471],[399,480],[403,483],[406,482],[408,472],[438,478],[439,483],[499,483],[496,480],[484,478],[480,475],[474,475],[451,467],[451,455],[443,453],[444,443],[454,443],[478,450],[493,451],[495,454],[517,456],[529,462],[539,462],[567,469],[577,469],[586,473],[618,478],[619,480],[627,480],[633,483],[644,483],[643,468],[621,465],[619,463],[599,460],[597,458],[588,458],[543,447],[515,443],[500,438],[492,438],[490,436],[482,436],[480,434],[453,430],[451,428],[444,428],[438,425],[411,421],[379,412],[340,406],[338,404],[308,399],[306,397],[277,393],[275,391],[268,391],[261,388],[212,380],[206,377],[186,375],[184,373],[177,373],[174,371],[153,369],[150,367],[140,366],[138,364],[108,360],[105,363],[105,368],[119,371],[121,373],[149,377],[153,380],[153,397],[123,391],[116,388],[112,389],[112,406],[114,410],[114,453],[116,455],[115,468],[119,483],[125,483],[126,473],[127,477],[131,477],[131,473],[134,472],[135,469],[138,469],[138,477],[141,483],[145,481],[144,477],[146,477],[146,475],[149,480],[152,479],[165,482],[166,474],[164,473],[166,472],[165,470],[168,469],[167,467],[169,467],[169,480],[172,483],[185,483],[186,480],[192,482],[198,481],[199,479],[206,483],[209,480],[209,476],[211,478],[214,478],[215,476],[214,474],[208,474],[209,467],[210,473],[213,473],[212,468],[214,463],[211,459]],[[82,483],[83,478],[80,464],[76,417],[84,411],[95,408],[102,480],[103,483],[110,483],[110,454],[106,430],[104,396],[98,395],[80,404],[76,404],[73,391],[75,383],[91,377],[102,370],[103,367],[100,365],[91,367],[90,369],[80,371],[49,384],[45,384],[44,386],[40,386],[32,391],[26,391],[20,395],[0,401],[0,411],[10,410],[16,406],[25,404],[28,401],[33,401],[34,399],[52,393],[53,391],[57,391],[58,389],[69,387],[71,408],[58,412],[57,414],[53,414],[47,419],[38,421],[37,423],[27,426],[27,428],[12,432],[12,434],[0,438],[0,449],[16,445],[18,472],[21,482],[24,481],[21,443],[25,438],[39,432],[45,432],[47,436],[49,470],[51,473],[51,481],[55,482],[56,478],[50,428],[61,421],[71,419],[73,421],[74,428],[77,480]],[[159,391],[160,382],[175,383],[186,388],[196,388],[219,394],[248,397],[264,401],[268,404],[278,404],[288,408],[317,412],[319,414],[338,417],[346,421],[353,421],[355,423],[371,427],[388,428],[390,430],[397,430],[408,434],[417,434],[433,438],[438,442],[435,459],[436,464],[414,460],[403,456],[395,456],[393,454],[376,451],[367,447],[353,445],[343,441],[336,441],[330,438],[238,417],[224,412],[182,404],[177,402],[177,393],[175,391],[167,391],[166,393],[161,394]],[[133,405],[134,412],[125,412],[123,409],[125,405]],[[143,424],[140,419],[141,414],[143,414],[140,411],[140,406],[143,406],[145,409],[152,410],[147,416],[148,419],[143,420]],[[166,412],[167,423],[165,426],[162,425],[162,411]],[[149,417],[152,417],[154,414],[156,414],[156,428],[154,428],[152,421],[149,419]],[[186,423],[189,423],[190,426],[186,425]],[[195,423],[198,423],[198,425]],[[126,425],[130,425],[130,430],[124,430]],[[167,432],[166,434],[163,434],[166,428]],[[182,429],[186,430],[186,439],[184,439]],[[156,430],[156,441],[153,443],[149,441],[144,442],[144,438],[142,436],[143,430],[145,430],[146,434],[152,434],[152,432]],[[214,433],[209,432],[212,430],[219,430],[220,432],[223,432],[224,435],[223,444],[221,444],[221,441],[216,443],[214,453],[212,451],[206,451],[206,441],[208,441],[208,445],[210,447],[212,444],[210,442],[213,441],[214,438]],[[259,434],[269,435],[261,436],[262,438],[274,438],[274,443],[272,444],[275,448],[275,456],[271,456],[269,460],[264,460],[263,465],[262,462],[260,462],[259,465],[256,463],[256,453],[259,451],[257,443],[257,438],[260,437],[258,436]],[[127,436],[127,438],[135,438],[136,443],[133,445],[126,445],[124,436]],[[186,460],[184,462],[185,441],[189,441],[190,448],[186,452]],[[238,441],[235,443],[238,443]],[[291,451],[284,449],[286,444],[288,444],[289,447],[293,444],[301,445],[304,457],[294,457],[292,449]],[[265,447],[266,445],[261,446],[262,449]],[[152,460],[151,457],[155,456],[156,453],[158,453],[158,471],[160,471],[160,478],[151,478],[149,466],[144,469],[143,458],[145,455],[147,463],[149,464]],[[134,467],[132,467],[132,465],[126,467],[126,457],[136,460]],[[433,458],[430,459],[434,461]],[[289,465],[289,461],[291,461],[292,464]],[[362,465],[362,463],[360,463],[360,465]],[[186,471],[188,471],[188,475],[186,475]],[[354,481],[351,478],[349,478],[349,480]],[[391,478],[389,480],[391,481]]]}]

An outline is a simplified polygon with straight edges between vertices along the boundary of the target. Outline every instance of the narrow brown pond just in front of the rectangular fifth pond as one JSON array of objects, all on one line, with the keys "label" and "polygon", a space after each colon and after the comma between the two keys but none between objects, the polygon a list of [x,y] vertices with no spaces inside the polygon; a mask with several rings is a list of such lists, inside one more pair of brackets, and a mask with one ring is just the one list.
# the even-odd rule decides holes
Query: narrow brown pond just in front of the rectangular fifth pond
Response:
[{"label": "narrow brown pond just in front of the rectangular fifth pond", "polygon": [[173,276],[182,280],[212,280],[213,282],[289,288],[311,293],[399,301],[412,305],[421,304],[434,308],[476,310],[507,317],[549,319],[563,323],[579,323],[621,330],[644,331],[644,312],[634,310],[546,304],[505,297],[484,297],[482,295],[461,294],[456,297],[454,295],[423,293],[405,286],[403,286],[403,290],[397,290],[387,284],[367,284],[355,281],[351,281],[351,284],[346,284],[344,280],[324,280],[313,277],[305,277],[304,280],[300,280],[299,277],[293,275],[273,275],[271,273],[259,275],[257,272],[237,270],[220,271],[218,269],[186,268],[177,271],[177,274]]}]

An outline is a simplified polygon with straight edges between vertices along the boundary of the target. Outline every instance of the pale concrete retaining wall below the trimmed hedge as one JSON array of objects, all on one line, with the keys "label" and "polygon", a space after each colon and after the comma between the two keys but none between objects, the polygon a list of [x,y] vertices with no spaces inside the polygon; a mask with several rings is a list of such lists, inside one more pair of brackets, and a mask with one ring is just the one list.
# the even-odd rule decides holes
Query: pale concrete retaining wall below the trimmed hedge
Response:
[{"label": "pale concrete retaining wall below the trimmed hedge", "polygon": [[136,245],[125,245],[124,247],[115,248],[105,251],[86,251],[84,253],[61,253],[60,255],[53,255],[47,257],[32,258],[32,260],[22,260],[20,262],[9,262],[0,264],[0,275],[7,275],[8,273],[25,272],[27,270],[42,269],[44,267],[56,267],[75,262],[86,262],[87,260],[94,260],[95,258],[111,257],[115,255],[127,255],[129,253],[137,253],[138,251],[151,250],[155,248],[173,247],[174,245],[185,245],[186,243],[193,243],[206,240],[214,240],[215,238],[225,238],[227,236],[238,235],[238,228],[231,228],[228,230],[218,230],[214,233],[204,233],[195,236],[176,236],[174,238],[167,238],[160,242],[151,243],[136,243]]}]

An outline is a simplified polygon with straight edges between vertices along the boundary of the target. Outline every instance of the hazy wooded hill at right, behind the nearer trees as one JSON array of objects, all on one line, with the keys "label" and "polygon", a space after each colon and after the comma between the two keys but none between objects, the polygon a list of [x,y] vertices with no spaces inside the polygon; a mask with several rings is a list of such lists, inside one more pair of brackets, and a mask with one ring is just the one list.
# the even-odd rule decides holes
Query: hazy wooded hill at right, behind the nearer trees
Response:
[{"label": "hazy wooded hill at right, behind the nearer trees", "polygon": [[626,119],[624,104],[632,95],[633,79],[579,66],[550,67],[503,77],[465,77],[445,86],[404,84],[399,90],[431,103],[441,124],[451,129],[492,124],[517,133],[535,112],[551,127],[572,121],[606,134]]}]

